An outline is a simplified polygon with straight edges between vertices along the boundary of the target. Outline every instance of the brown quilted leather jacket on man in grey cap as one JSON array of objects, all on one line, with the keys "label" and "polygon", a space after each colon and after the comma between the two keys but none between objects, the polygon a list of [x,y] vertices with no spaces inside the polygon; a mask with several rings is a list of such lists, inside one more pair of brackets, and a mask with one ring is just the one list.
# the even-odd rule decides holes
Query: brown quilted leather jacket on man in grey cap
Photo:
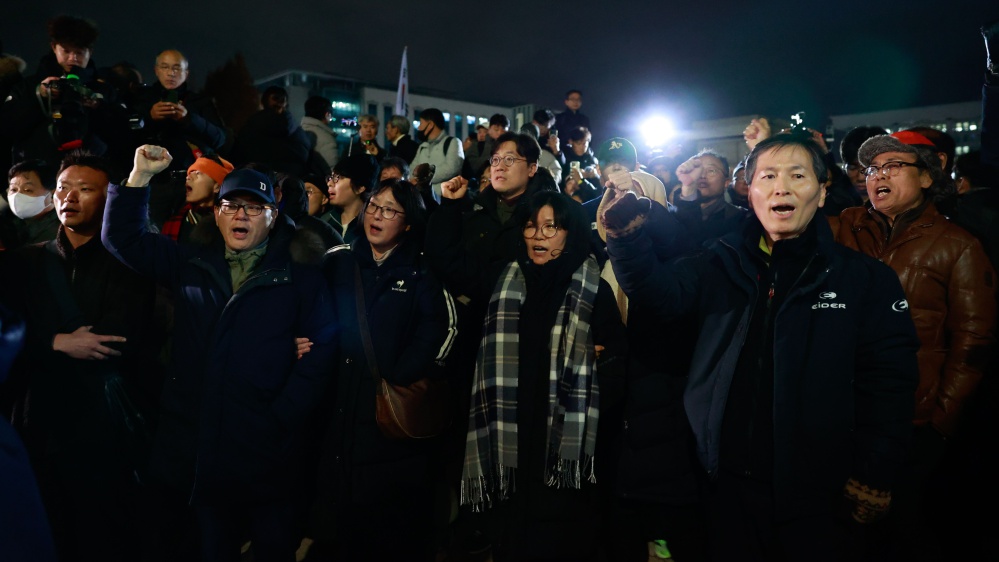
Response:
[{"label": "brown quilted leather jacket on man in grey cap", "polygon": [[864,207],[844,210],[839,222],[839,243],[898,274],[921,344],[913,423],[950,435],[996,341],[995,271],[982,245],[933,203],[902,213],[894,228]]}]

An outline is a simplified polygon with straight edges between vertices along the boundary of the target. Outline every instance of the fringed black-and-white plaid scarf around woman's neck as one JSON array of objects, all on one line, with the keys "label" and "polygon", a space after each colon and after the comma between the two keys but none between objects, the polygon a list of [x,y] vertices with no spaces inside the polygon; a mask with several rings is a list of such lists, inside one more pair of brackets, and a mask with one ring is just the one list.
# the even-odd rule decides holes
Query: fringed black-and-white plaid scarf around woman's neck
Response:
[{"label": "fringed black-and-white plaid scarf around woman's neck", "polygon": [[[599,390],[590,317],[600,283],[592,257],[572,275],[552,328],[549,349],[547,456],[545,484],[580,488],[583,477],[596,482]],[[520,306],[526,297],[517,262],[503,270],[489,300],[482,344],[475,362],[472,407],[465,438],[461,503],[476,511],[514,490],[517,468],[517,383]]]}]

